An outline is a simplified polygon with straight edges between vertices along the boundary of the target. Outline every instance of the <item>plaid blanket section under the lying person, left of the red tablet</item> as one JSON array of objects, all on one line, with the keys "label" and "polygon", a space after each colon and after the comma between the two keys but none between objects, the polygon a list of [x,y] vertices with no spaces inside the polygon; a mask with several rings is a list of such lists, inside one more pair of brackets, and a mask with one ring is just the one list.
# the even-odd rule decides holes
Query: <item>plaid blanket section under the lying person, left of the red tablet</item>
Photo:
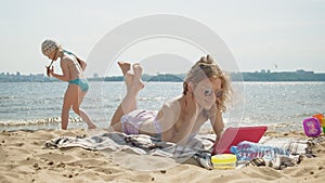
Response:
[{"label": "plaid blanket section under the lying person, left of the red tablet", "polygon": [[212,141],[197,135],[186,145],[162,142],[146,134],[125,134],[107,132],[99,135],[60,136],[48,140],[44,148],[81,147],[90,151],[132,152],[138,155],[152,155],[168,158],[195,158],[203,167],[211,169],[210,152]]}]

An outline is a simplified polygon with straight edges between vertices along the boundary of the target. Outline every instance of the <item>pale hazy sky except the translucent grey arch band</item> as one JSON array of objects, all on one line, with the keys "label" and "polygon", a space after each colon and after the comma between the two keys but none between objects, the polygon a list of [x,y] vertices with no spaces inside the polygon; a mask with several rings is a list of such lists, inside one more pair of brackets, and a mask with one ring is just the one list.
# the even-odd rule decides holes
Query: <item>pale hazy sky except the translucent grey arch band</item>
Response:
[{"label": "pale hazy sky except the translucent grey arch band", "polygon": [[[325,73],[325,0],[0,2],[0,73],[44,74],[44,66],[50,63],[40,51],[44,39],[57,40],[63,48],[88,60],[107,34],[134,18],[155,14],[180,15],[209,27],[224,41],[240,71]],[[144,28],[150,29],[151,25]],[[155,38],[133,42],[117,58],[141,62],[161,53],[174,54],[173,58],[199,58],[197,48],[188,47],[188,42]],[[164,61],[160,57],[157,62]],[[114,64],[88,65],[92,68],[88,75],[100,67],[106,67],[106,74],[120,74]]]}]

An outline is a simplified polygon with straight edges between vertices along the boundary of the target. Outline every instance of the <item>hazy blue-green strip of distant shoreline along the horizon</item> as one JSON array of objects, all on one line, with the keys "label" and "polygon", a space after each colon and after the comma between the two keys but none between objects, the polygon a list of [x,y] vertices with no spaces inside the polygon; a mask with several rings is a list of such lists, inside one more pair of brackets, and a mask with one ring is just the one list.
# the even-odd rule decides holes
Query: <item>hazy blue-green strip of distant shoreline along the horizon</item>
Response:
[{"label": "hazy blue-green strip of distant shoreline along the horizon", "polygon": [[[144,81],[157,82],[182,82],[185,74],[158,74],[143,75]],[[271,73],[270,70],[261,70],[255,73],[231,73],[232,81],[325,81],[325,74],[315,74],[314,71],[297,70]],[[122,81],[122,76],[92,77],[89,81]],[[0,74],[0,82],[56,82],[55,78],[49,78],[43,74],[38,75],[21,75],[17,74]]]}]

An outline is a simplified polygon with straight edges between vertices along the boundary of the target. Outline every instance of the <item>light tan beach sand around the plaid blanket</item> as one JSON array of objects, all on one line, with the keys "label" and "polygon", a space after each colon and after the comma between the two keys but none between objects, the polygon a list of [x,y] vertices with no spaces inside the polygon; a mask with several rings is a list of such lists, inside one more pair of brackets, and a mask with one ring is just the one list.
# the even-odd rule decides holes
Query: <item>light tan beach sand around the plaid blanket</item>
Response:
[{"label": "light tan beach sand around the plaid blanket", "polygon": [[[82,136],[89,133],[78,129],[1,132],[0,182],[325,182],[324,141],[313,148],[316,157],[304,158],[300,165],[284,170],[253,166],[207,170],[191,161],[165,162],[161,158],[139,158],[125,152],[42,148],[47,140],[62,135]],[[266,132],[266,135],[304,138],[302,132]],[[156,169],[139,171],[119,162],[142,164],[147,165],[147,169]]]}]

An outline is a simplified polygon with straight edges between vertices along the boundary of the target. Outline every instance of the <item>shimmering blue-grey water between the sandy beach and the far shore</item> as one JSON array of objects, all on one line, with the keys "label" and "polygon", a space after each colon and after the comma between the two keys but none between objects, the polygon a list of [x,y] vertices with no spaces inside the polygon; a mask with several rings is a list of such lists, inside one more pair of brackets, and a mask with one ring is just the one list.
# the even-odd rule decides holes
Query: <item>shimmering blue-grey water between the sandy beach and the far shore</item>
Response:
[{"label": "shimmering blue-grey water between the sandy beach and the far shore", "polygon": [[[235,96],[224,114],[226,126],[302,130],[302,120],[325,113],[325,82],[234,82]],[[0,131],[61,129],[65,82],[0,82]],[[123,82],[90,82],[81,107],[101,128],[107,128],[125,95]],[[158,109],[181,94],[181,82],[147,82],[139,93],[139,108]],[[68,128],[86,128],[70,110]],[[207,123],[205,128],[209,128]]]}]

